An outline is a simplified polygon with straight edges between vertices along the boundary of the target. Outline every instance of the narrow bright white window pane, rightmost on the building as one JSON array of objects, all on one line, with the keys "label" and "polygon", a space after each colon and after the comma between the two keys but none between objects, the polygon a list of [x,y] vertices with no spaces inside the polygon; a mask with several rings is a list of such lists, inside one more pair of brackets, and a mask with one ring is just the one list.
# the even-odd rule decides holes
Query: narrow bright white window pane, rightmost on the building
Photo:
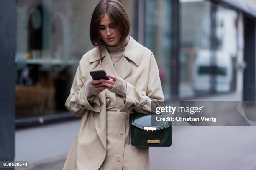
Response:
[{"label": "narrow bright white window pane, rightmost on the building", "polygon": [[216,12],[216,92],[236,89],[236,59],[238,55],[238,13],[218,6]]}]

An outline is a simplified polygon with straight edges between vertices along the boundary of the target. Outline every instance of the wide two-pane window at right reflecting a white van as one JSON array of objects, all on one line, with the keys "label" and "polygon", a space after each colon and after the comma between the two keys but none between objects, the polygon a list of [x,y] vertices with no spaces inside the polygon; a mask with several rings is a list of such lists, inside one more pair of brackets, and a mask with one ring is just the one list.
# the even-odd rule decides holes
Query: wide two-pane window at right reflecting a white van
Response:
[{"label": "wide two-pane window at right reflecting a white van", "polygon": [[180,0],[179,97],[236,89],[238,13],[206,0]]}]

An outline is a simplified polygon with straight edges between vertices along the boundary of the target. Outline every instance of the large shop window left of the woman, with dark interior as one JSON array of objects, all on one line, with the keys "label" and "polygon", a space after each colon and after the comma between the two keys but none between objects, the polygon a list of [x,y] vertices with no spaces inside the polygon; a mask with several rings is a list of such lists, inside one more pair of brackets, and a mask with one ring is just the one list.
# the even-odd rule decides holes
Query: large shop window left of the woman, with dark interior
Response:
[{"label": "large shop window left of the woman, with dark interior", "polygon": [[16,118],[68,112],[64,103],[99,0],[17,0]]}]

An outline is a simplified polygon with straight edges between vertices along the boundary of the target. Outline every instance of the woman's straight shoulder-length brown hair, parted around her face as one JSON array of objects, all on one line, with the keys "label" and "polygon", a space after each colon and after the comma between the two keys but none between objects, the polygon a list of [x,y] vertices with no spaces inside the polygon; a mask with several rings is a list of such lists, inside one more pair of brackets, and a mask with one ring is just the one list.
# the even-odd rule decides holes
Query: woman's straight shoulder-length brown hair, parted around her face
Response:
[{"label": "woman's straight shoulder-length brown hair, parted around her face", "polygon": [[[123,8],[123,5],[118,2],[118,0],[101,0],[92,13],[90,24],[90,39],[92,45],[99,48],[100,57],[102,55],[102,45],[105,45],[105,42],[100,38],[99,24],[100,19],[105,14],[107,14],[117,25],[118,32],[120,33],[120,43],[122,49],[125,38],[129,35],[131,27],[128,15]],[[100,57],[97,60],[97,65],[100,63]]]}]

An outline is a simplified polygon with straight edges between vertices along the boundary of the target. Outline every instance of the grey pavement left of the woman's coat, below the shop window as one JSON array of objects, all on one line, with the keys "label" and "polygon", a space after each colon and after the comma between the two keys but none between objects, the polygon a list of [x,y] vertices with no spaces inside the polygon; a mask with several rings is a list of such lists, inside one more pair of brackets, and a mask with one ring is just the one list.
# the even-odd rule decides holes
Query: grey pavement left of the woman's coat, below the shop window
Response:
[{"label": "grey pavement left of the woman's coat, below the shop window", "polygon": [[72,120],[16,130],[15,161],[29,161],[29,168],[36,165],[33,169],[38,170],[45,167],[40,164],[61,170],[79,124],[80,120]]}]

